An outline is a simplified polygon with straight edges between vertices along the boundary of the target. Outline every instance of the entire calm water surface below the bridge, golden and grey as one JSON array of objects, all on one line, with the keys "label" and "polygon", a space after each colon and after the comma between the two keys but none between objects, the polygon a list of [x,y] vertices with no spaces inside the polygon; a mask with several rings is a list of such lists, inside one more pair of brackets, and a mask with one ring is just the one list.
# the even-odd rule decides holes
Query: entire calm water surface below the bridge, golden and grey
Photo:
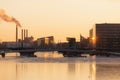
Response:
[{"label": "entire calm water surface below the bridge, golden and grey", "polygon": [[108,63],[109,60],[114,62],[116,58],[102,58],[100,62],[100,58],[64,58],[61,54],[52,52],[36,53],[37,58],[11,55],[12,57],[8,54],[5,59],[0,58],[0,80],[120,79],[120,64]]}]

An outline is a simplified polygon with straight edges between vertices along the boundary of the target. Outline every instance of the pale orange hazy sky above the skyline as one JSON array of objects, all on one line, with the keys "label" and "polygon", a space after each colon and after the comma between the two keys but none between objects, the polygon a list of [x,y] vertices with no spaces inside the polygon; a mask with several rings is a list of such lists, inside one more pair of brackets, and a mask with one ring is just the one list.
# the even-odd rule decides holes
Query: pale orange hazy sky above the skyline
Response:
[{"label": "pale orange hazy sky above the skyline", "polygon": [[[35,39],[53,35],[56,42],[88,37],[95,23],[120,23],[119,0],[0,0],[0,8]],[[15,41],[14,23],[0,20],[0,40]]]}]

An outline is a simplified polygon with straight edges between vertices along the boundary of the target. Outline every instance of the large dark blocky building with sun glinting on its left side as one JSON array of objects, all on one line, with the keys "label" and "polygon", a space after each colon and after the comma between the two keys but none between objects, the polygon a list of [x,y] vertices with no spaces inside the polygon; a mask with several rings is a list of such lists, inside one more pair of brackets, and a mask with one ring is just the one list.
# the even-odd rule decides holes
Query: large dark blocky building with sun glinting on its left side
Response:
[{"label": "large dark blocky building with sun glinting on its left side", "polygon": [[96,24],[90,30],[90,46],[102,50],[120,50],[120,24]]}]

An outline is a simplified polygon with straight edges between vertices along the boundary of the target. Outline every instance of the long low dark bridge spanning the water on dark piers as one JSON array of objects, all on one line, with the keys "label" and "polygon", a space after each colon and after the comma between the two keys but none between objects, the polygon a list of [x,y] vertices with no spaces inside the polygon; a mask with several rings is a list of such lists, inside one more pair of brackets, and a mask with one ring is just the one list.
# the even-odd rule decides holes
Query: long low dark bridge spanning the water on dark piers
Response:
[{"label": "long low dark bridge spanning the water on dark piers", "polygon": [[26,57],[36,57],[34,55],[35,52],[48,52],[48,51],[57,51],[60,54],[63,54],[64,57],[80,57],[81,54],[89,54],[89,55],[115,55],[120,56],[120,52],[108,52],[108,51],[96,51],[96,50],[71,50],[71,49],[23,49],[23,50],[2,50],[0,51],[0,55],[4,58],[7,53],[20,53],[20,56]]}]

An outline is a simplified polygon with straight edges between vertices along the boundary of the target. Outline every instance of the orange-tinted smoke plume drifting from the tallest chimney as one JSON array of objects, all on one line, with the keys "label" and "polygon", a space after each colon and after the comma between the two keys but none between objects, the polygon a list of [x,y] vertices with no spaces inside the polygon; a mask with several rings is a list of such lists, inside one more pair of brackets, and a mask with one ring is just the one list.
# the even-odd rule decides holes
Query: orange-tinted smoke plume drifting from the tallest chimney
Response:
[{"label": "orange-tinted smoke plume drifting from the tallest chimney", "polygon": [[17,26],[21,27],[21,24],[19,23],[19,21],[13,17],[6,15],[3,9],[0,9],[0,18],[6,22],[14,22]]}]

